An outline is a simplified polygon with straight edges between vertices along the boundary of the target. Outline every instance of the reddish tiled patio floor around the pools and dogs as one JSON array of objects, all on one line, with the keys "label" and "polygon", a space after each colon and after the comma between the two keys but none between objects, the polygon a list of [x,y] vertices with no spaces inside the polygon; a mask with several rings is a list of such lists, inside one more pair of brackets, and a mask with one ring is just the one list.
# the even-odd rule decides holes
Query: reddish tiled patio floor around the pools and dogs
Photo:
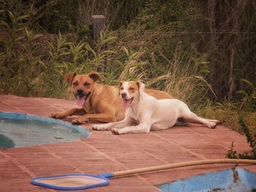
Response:
[{"label": "reddish tiled patio floor around the pools and dogs", "polygon": [[[0,111],[50,116],[75,101],[0,95]],[[239,153],[249,151],[246,137],[225,126],[215,129],[195,123],[149,134],[113,135],[91,130],[88,139],[61,144],[0,150],[0,191],[54,191],[30,184],[31,177],[53,174],[114,172],[184,161],[224,158],[231,142]],[[168,169],[113,178],[110,185],[86,191],[159,191],[155,185],[195,174],[218,171],[234,164]],[[256,172],[255,165],[239,165]]]}]

